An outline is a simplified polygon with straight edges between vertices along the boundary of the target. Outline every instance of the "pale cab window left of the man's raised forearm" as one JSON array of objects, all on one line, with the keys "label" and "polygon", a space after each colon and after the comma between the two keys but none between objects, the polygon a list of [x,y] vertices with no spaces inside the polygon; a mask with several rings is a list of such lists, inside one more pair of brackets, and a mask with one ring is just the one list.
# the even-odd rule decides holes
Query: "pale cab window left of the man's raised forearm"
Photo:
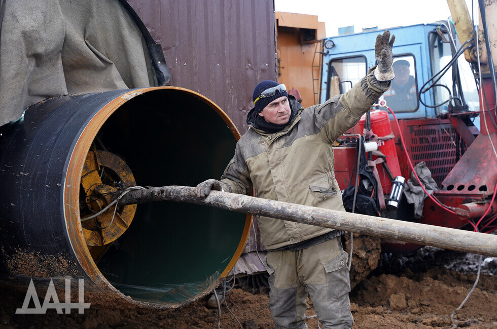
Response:
[{"label": "pale cab window left of the man's raised forearm", "polygon": [[366,73],[367,63],[364,56],[332,59],[328,67],[327,98],[345,93]]}]

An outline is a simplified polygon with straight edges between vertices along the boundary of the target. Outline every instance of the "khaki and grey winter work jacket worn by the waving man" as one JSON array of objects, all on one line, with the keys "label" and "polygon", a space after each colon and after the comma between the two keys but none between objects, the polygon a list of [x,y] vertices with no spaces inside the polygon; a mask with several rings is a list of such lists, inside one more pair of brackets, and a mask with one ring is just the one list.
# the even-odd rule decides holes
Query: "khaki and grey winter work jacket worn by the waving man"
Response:
[{"label": "khaki and grey winter work jacket worn by the waving man", "polygon": [[[352,127],[390,83],[378,81],[372,70],[351,90],[324,104],[303,108],[289,97],[297,116],[283,130],[269,134],[252,126],[236,144],[221,183],[225,191],[345,211],[334,173],[331,144]],[[330,228],[259,218],[266,249],[304,241]]]}]

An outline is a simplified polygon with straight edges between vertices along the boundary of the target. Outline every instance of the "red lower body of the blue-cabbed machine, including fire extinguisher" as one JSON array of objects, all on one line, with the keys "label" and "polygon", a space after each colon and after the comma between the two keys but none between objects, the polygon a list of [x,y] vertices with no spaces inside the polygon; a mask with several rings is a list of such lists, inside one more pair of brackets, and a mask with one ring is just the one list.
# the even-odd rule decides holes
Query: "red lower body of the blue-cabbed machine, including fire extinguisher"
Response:
[{"label": "red lower body of the blue-cabbed machine, including fire extinguisher", "polygon": [[[483,80],[483,89],[488,100],[488,108],[494,108],[493,87],[489,79]],[[481,100],[480,100],[481,102]],[[480,104],[480,108],[487,108],[487,104]],[[402,148],[400,134],[403,135],[408,155],[415,166],[424,161],[432,172],[432,177],[439,186],[434,196],[444,205],[457,208],[457,214],[451,214],[437,205],[430,198],[425,198],[423,216],[415,219],[409,212],[403,213],[400,219],[415,221],[423,224],[460,228],[469,224],[469,220],[477,222],[489,207],[489,199],[494,193],[497,184],[497,159],[493,153],[492,143],[497,145],[497,131],[489,115],[494,111],[485,111],[481,114],[481,133],[473,139],[470,145],[460,130],[453,126],[454,119],[405,119],[399,121],[400,131],[394,120],[388,119],[385,111],[371,111],[371,130],[377,136],[386,136],[393,131],[395,138],[379,145],[379,150],[387,155],[387,164],[394,176],[403,176],[406,181],[410,178],[411,169],[408,166],[407,156]],[[464,113],[463,113],[464,115]],[[454,114],[461,116],[461,113]],[[495,119],[495,117],[494,117]],[[497,121],[497,120],[496,120]],[[356,134],[362,134],[365,118],[363,117],[353,130],[347,131],[340,137],[341,140],[352,143],[347,146],[334,148],[335,175],[339,186],[344,189],[348,184],[355,183]],[[452,122],[452,124],[451,124]],[[486,123],[486,124],[485,124]],[[388,125],[386,125],[388,124]],[[392,128],[390,128],[392,127]],[[459,156],[459,154],[462,154]],[[374,157],[373,157],[374,158]],[[380,181],[385,197],[391,184],[382,166],[377,166]],[[355,175],[354,175],[355,176]],[[385,217],[395,218],[395,215],[384,212]],[[497,202],[493,202],[488,214],[481,221],[483,232],[490,232],[497,227]],[[468,225],[469,226],[469,225]],[[384,252],[410,253],[419,249],[421,245],[383,240]]]}]

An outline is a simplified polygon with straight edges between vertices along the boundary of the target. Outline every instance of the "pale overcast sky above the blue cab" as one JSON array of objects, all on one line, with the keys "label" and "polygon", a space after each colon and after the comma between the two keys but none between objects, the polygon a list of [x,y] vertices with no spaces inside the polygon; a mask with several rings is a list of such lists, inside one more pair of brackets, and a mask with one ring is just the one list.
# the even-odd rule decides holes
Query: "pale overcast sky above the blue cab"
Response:
[{"label": "pale overcast sky above the blue cab", "polygon": [[[475,1],[475,6],[476,6]],[[471,16],[472,0],[466,0]],[[338,28],[354,25],[355,32],[378,26],[388,28],[432,23],[450,16],[445,0],[274,0],[278,12],[317,15],[326,22],[326,36],[338,35]],[[477,7],[475,7],[475,17]]]}]

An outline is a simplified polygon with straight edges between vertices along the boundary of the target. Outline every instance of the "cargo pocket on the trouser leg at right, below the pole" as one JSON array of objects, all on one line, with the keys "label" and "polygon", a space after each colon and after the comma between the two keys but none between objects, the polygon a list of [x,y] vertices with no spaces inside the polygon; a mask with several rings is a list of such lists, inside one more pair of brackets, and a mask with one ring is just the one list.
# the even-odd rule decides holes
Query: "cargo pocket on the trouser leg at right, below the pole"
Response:
[{"label": "cargo pocket on the trouser leg at right, below the pole", "polygon": [[348,254],[342,251],[324,264],[328,299],[337,299],[350,292],[350,277],[347,267]]}]

